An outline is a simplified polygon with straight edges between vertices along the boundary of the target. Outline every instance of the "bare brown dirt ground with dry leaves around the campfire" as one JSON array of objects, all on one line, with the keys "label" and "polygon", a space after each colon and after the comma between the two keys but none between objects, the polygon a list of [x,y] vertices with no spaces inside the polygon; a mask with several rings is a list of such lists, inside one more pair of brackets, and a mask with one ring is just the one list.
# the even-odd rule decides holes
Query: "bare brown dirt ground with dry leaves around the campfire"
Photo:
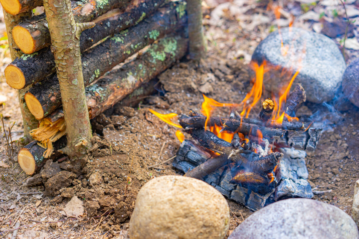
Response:
[{"label": "bare brown dirt ground with dry leaves around the campfire", "polygon": [[[208,53],[201,67],[183,59],[159,76],[157,95],[144,99],[136,108],[115,106],[93,120],[95,146],[88,156],[80,162],[62,158],[53,166],[68,172],[65,180],[48,179],[48,171],[29,178],[16,162],[18,143],[14,142],[14,156],[10,158],[2,143],[0,239],[11,238],[17,221],[18,238],[128,238],[128,222],[141,186],[153,177],[180,174],[168,161],[180,145],[174,135],[177,129],[149,113],[148,108],[159,113],[199,111],[202,93],[219,102],[242,101],[251,87],[251,53],[271,31],[288,26],[292,19],[295,27],[319,32],[326,21],[343,21],[342,5],[325,2],[328,3],[279,2],[281,17],[275,20],[274,5],[267,1],[205,1]],[[340,44],[342,35],[334,39]],[[0,111],[6,127],[15,122],[11,135],[16,140],[22,135],[22,120],[17,92],[7,86],[3,76],[10,62],[6,40],[0,44],[0,99],[4,99]],[[356,46],[349,41],[347,47]],[[356,56],[356,50],[346,49],[348,62]],[[329,111],[328,107],[311,104],[300,111],[310,115],[318,109],[323,114]],[[359,113],[354,105],[342,111],[330,110],[320,145],[307,157],[309,181],[316,190],[332,190],[314,199],[336,205],[350,215],[354,182],[359,177]],[[3,134],[2,126],[1,130]],[[43,183],[53,186],[45,190]],[[74,195],[84,203],[84,216],[62,214]],[[231,200],[228,203],[231,231],[252,212]]]}]

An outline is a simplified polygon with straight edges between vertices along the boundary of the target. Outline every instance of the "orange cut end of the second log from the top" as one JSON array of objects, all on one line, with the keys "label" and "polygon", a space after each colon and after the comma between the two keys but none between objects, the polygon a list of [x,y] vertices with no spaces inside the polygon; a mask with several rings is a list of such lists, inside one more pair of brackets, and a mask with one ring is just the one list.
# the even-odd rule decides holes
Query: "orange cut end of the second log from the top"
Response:
[{"label": "orange cut end of the second log from the top", "polygon": [[16,45],[26,54],[36,51],[35,40],[28,29],[15,26],[13,29],[13,38]]}]

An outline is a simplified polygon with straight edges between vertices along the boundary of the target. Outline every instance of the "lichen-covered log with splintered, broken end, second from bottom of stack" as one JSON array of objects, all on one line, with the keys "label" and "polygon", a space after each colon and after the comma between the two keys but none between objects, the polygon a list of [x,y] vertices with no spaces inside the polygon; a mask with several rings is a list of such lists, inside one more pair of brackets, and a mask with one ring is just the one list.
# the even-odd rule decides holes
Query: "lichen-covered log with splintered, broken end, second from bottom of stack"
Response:
[{"label": "lichen-covered log with splintered, broken end, second from bottom of stack", "polygon": [[[146,53],[126,63],[122,69],[109,72],[106,78],[103,78],[103,82],[107,82],[106,89],[101,82],[87,87],[88,102],[95,104],[94,107],[88,106],[90,118],[101,114],[129,94],[134,94],[138,85],[148,82],[176,60],[181,59],[187,51],[187,43],[186,38],[178,36],[161,39],[157,44],[151,45]],[[65,128],[60,129],[57,125],[61,126],[63,116],[62,108],[59,108],[43,118],[40,121],[41,127],[32,131],[32,137],[46,142],[50,138],[49,135],[61,134],[60,130]]]}]

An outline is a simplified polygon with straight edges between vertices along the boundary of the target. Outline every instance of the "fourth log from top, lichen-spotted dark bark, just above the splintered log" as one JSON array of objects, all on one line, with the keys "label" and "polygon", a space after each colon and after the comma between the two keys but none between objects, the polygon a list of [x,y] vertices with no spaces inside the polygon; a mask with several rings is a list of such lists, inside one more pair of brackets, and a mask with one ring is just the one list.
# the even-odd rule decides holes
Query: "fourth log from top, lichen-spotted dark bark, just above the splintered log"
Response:
[{"label": "fourth log from top, lichen-spotted dark bark, just above the splintered log", "polygon": [[[85,86],[184,22],[185,17],[178,19],[176,9],[170,9],[165,14],[157,13],[149,21],[143,21],[90,49],[83,54],[81,60]],[[59,88],[57,76],[53,76],[38,82],[27,92],[25,100],[36,119],[42,119],[61,105]]]}]

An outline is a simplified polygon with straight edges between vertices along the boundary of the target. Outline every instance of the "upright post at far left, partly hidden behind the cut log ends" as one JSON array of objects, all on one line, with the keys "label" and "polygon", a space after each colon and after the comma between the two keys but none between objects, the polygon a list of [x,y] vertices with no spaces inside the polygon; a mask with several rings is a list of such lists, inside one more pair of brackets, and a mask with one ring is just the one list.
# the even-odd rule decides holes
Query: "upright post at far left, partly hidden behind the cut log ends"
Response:
[{"label": "upright post at far left, partly hidden behind the cut log ends", "polygon": [[[26,13],[20,13],[18,15],[11,15],[11,14],[7,13],[6,11],[3,11],[3,12],[4,12],[4,19],[5,19],[5,25],[6,25],[6,33],[8,34],[11,61],[14,61],[15,58],[20,57],[22,55],[22,52],[14,49],[14,47],[16,47],[16,44],[14,42],[13,34],[12,34],[13,28],[15,27],[15,25],[17,25],[20,22],[20,18],[30,17],[31,11],[26,12]],[[18,90],[20,110],[21,110],[21,114],[23,117],[24,137],[25,137],[24,143],[25,144],[32,141],[29,132],[32,129],[37,128],[37,126],[38,126],[38,121],[30,113],[30,111],[25,103],[25,99],[24,99],[24,95],[25,95],[26,91],[28,91],[29,87],[31,87],[31,86],[28,86],[24,89]]]}]

